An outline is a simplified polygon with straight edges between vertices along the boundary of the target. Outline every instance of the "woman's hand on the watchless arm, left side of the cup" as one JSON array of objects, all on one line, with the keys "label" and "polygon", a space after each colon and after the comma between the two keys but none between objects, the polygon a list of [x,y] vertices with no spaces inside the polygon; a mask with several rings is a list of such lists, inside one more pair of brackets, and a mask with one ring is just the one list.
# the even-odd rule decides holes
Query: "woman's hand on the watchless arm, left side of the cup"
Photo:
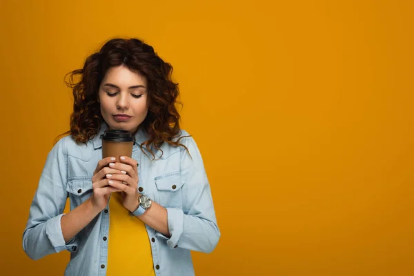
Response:
[{"label": "woman's hand on the watchless arm, left side of the cup", "polygon": [[[98,164],[95,172],[93,172],[92,177],[92,196],[90,201],[94,208],[103,210],[108,205],[108,200],[110,193],[121,192],[118,188],[108,186],[110,185],[110,179],[105,179],[105,176],[108,174],[120,174],[120,170],[114,168],[109,168],[108,164],[115,161],[115,157],[106,157],[101,159]],[[112,180],[113,181],[113,180]],[[115,182],[115,181],[113,181]]]}]

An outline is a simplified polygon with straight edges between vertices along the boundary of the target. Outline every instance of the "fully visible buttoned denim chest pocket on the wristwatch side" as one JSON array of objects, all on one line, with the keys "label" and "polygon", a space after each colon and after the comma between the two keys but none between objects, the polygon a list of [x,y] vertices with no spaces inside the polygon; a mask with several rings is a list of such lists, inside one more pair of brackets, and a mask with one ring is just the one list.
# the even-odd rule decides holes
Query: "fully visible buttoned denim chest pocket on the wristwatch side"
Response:
[{"label": "fully visible buttoned denim chest pocket on the wristwatch side", "polygon": [[155,185],[159,194],[159,204],[164,207],[183,207],[183,180],[179,172],[155,177]]}]

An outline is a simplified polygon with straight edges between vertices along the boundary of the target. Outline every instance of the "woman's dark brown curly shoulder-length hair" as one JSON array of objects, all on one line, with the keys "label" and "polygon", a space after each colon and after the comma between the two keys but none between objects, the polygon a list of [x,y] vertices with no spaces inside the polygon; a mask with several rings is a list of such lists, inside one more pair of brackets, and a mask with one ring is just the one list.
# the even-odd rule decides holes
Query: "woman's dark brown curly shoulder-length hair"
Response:
[{"label": "woman's dark brown curly shoulder-length hair", "polygon": [[139,72],[148,83],[148,115],[140,128],[149,139],[141,144],[141,149],[145,146],[155,158],[152,145],[157,150],[164,142],[186,148],[179,142],[184,137],[175,141],[180,132],[176,103],[181,103],[177,101],[178,83],[174,83],[171,78],[172,66],[163,61],[152,46],[139,39],[111,39],[99,52],[86,59],[82,69],[66,75],[70,75],[66,84],[72,88],[73,112],[70,115],[70,130],[64,134],[83,143],[97,135],[103,121],[98,101],[99,86],[109,68],[121,65]]}]

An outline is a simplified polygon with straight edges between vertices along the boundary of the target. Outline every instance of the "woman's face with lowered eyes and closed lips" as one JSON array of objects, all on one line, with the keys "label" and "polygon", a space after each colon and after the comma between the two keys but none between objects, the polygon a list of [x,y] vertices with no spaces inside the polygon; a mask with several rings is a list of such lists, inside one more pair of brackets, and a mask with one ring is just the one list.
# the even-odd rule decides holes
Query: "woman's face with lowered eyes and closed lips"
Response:
[{"label": "woman's face with lowered eyes and closed lips", "polygon": [[108,69],[98,97],[102,117],[111,129],[135,133],[148,113],[146,78],[124,65]]}]

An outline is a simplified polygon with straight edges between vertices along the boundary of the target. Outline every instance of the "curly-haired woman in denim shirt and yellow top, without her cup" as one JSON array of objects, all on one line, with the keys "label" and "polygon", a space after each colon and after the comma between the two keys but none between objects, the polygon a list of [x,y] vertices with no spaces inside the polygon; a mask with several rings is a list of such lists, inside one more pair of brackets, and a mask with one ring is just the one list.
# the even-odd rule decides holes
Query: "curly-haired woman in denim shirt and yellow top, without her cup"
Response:
[{"label": "curly-haired woman in denim shirt and yellow top, without her cup", "polygon": [[[139,39],[112,39],[72,72],[70,135],[48,155],[23,233],[30,258],[69,250],[65,275],[183,276],[194,275],[190,250],[215,248],[210,186],[179,128],[171,73]],[[108,129],[135,136],[132,158],[102,159]]]}]

